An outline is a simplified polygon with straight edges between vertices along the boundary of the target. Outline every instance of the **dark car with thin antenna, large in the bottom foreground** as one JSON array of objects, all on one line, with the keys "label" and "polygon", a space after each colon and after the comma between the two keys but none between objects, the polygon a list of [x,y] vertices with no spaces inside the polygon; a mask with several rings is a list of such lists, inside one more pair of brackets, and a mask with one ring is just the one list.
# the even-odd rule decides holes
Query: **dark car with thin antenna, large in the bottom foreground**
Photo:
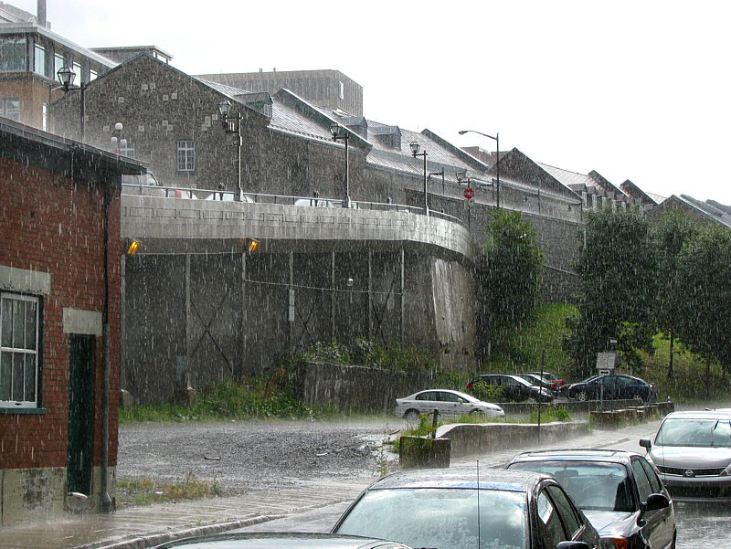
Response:
[{"label": "dark car with thin antenna, large in the bottom foreground", "polygon": [[333,532],[449,549],[599,544],[597,531],[555,479],[475,467],[387,475],[350,505]]}]

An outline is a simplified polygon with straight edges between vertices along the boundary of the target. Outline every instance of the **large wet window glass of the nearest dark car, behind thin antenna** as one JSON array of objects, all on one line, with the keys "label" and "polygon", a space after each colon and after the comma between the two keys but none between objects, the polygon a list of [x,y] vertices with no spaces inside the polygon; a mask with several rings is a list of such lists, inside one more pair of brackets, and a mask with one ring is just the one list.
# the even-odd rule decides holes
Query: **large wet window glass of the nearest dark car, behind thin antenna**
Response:
[{"label": "large wet window glass of the nearest dark car, behind thin antenna", "polygon": [[[475,521],[480,509],[480,544]],[[365,492],[338,533],[436,549],[524,549],[525,494],[474,489]]]}]

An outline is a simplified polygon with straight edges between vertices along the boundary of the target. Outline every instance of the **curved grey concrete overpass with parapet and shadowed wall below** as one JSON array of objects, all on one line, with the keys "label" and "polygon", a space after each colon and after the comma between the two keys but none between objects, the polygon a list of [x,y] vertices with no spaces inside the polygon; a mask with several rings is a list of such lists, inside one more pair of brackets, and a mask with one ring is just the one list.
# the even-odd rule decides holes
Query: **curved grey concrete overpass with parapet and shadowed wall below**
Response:
[{"label": "curved grey concrete overpass with parapet and shadowed wall below", "polygon": [[122,259],[122,388],[161,400],[359,336],[473,364],[467,227],[361,208],[123,195],[122,237],[143,248]]}]

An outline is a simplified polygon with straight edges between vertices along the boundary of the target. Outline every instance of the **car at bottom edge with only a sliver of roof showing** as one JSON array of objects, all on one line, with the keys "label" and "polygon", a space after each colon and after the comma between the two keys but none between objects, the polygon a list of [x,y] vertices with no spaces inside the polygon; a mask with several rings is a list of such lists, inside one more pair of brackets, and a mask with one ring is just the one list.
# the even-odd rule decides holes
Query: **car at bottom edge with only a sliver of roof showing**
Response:
[{"label": "car at bottom edge with only a sliver of roof showing", "polygon": [[187,537],[153,549],[409,549],[407,545],[333,533],[219,533]]}]

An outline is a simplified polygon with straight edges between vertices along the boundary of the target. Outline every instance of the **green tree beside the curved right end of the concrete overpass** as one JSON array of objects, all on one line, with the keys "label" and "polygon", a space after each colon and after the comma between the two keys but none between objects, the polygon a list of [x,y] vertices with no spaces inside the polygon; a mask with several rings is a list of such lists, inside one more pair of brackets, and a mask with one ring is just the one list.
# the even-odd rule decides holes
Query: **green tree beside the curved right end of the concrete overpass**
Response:
[{"label": "green tree beside the curved right end of the concrete overpass", "polygon": [[518,212],[496,210],[485,230],[478,268],[478,325],[490,360],[493,342],[501,341],[506,330],[523,327],[535,308],[543,251],[533,223]]}]

